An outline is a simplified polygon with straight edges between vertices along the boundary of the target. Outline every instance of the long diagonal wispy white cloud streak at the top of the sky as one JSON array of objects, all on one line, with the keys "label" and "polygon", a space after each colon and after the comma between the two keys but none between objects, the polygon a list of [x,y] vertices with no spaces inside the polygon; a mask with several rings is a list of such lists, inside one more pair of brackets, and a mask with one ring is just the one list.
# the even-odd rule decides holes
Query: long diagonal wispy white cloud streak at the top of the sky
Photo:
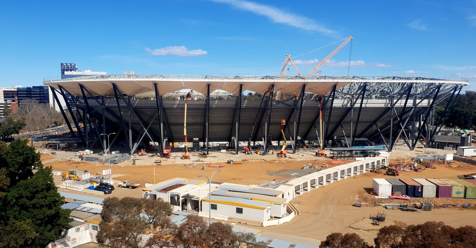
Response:
[{"label": "long diagonal wispy white cloud streak at the top of the sky", "polygon": [[266,16],[271,21],[276,23],[283,23],[291,27],[298,29],[304,29],[309,31],[317,31],[324,34],[332,34],[336,31],[327,29],[324,25],[317,24],[313,19],[309,19],[304,16],[287,13],[284,10],[280,10],[275,7],[249,2],[245,0],[211,0],[214,2],[228,3],[241,10],[248,10],[257,15]]}]

